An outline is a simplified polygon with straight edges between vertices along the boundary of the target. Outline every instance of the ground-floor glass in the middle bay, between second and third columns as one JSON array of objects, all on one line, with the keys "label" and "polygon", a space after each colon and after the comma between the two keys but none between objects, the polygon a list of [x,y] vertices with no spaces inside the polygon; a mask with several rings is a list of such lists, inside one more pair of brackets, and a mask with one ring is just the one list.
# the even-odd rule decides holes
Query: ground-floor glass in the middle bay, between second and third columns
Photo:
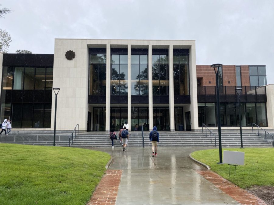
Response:
[{"label": "ground-floor glass in the middle bay, between second and third columns", "polygon": [[148,107],[132,107],[131,108],[131,130],[141,131],[149,130]]}]

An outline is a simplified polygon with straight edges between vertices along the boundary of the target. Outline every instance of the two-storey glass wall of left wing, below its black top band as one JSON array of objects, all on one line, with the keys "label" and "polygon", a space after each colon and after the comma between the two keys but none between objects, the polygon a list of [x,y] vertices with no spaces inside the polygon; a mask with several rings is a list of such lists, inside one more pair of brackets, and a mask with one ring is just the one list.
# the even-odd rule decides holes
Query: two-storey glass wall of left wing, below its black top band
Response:
[{"label": "two-storey glass wall of left wing, below its black top band", "polygon": [[52,67],[3,67],[1,121],[12,128],[50,128]]}]

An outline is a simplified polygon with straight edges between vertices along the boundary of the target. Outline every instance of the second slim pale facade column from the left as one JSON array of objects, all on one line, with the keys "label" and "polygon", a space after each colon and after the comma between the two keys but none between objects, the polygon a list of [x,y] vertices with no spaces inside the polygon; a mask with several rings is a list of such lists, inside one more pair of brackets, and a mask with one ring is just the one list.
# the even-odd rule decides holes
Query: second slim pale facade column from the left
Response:
[{"label": "second slim pale facade column from the left", "polygon": [[131,45],[128,44],[128,130],[131,131]]}]

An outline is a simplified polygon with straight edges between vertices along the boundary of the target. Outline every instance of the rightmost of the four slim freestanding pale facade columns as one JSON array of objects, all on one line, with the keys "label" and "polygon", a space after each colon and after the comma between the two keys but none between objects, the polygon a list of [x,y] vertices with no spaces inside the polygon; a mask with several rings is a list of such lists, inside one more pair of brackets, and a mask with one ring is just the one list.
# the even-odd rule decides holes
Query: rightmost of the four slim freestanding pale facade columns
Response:
[{"label": "rightmost of the four slim freestanding pale facade columns", "polygon": [[168,52],[168,80],[169,80],[169,120],[170,131],[175,131],[174,126],[174,89],[173,89],[173,45],[169,45]]}]

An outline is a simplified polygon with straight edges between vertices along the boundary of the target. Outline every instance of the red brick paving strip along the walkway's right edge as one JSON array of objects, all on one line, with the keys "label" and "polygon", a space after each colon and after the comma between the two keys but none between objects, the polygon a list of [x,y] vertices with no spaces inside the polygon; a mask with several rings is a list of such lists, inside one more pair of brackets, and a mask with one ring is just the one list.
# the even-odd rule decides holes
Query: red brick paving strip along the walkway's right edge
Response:
[{"label": "red brick paving strip along the walkway's right edge", "polygon": [[213,183],[216,187],[222,190],[224,193],[229,195],[231,198],[236,200],[241,204],[248,205],[267,205],[263,200],[254,196],[253,194],[247,192],[244,189],[236,186],[235,184],[229,182],[227,179],[224,179],[220,175],[207,170],[207,171],[196,171],[201,176],[203,176],[206,180]]}]

